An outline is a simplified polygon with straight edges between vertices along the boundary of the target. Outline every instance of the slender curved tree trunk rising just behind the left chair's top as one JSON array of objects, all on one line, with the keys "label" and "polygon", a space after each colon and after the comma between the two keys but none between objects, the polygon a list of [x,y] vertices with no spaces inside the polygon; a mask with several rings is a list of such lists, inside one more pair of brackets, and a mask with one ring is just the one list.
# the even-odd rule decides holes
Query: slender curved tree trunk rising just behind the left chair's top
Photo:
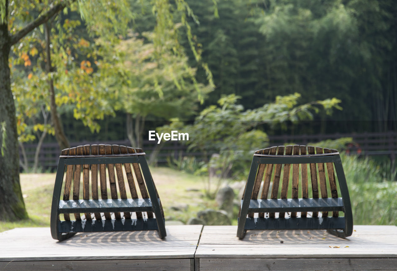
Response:
[{"label": "slender curved tree trunk rising just behind the left chair's top", "polygon": [[52,126],[54,127],[56,141],[58,142],[60,149],[63,150],[63,149],[68,149],[70,145],[69,145],[69,141],[67,141],[67,138],[65,136],[64,128],[62,126],[62,121],[56,109],[54,81],[52,80],[52,76],[50,76],[50,73],[53,71],[53,67],[51,65],[51,50],[50,50],[51,26],[49,22],[44,23],[44,29],[46,34],[46,55],[47,55],[46,73],[48,75],[48,86],[50,88],[50,111],[51,111]]}]

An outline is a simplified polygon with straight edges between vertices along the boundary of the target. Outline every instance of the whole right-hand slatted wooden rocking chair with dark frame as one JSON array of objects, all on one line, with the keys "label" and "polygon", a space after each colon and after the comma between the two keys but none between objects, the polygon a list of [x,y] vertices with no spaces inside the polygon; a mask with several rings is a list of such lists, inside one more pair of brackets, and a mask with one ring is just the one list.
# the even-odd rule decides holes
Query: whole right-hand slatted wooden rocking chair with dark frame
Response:
[{"label": "whole right-hand slatted wooden rocking chair with dark frame", "polygon": [[[287,217],[285,212],[289,212]],[[256,151],[241,200],[237,237],[242,239],[246,230],[255,229],[327,229],[338,237],[350,236],[353,216],[337,150],[294,145]]]}]

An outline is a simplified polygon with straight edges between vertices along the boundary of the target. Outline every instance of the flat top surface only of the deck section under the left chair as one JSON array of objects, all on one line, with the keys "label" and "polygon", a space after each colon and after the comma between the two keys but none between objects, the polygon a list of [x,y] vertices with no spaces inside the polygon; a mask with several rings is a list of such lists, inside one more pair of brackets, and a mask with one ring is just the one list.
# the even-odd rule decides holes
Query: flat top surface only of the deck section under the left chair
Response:
[{"label": "flat top surface only of the deck section under the left chair", "polygon": [[0,233],[0,261],[193,259],[202,225],[156,231],[77,234],[62,242],[49,228],[15,228]]}]

